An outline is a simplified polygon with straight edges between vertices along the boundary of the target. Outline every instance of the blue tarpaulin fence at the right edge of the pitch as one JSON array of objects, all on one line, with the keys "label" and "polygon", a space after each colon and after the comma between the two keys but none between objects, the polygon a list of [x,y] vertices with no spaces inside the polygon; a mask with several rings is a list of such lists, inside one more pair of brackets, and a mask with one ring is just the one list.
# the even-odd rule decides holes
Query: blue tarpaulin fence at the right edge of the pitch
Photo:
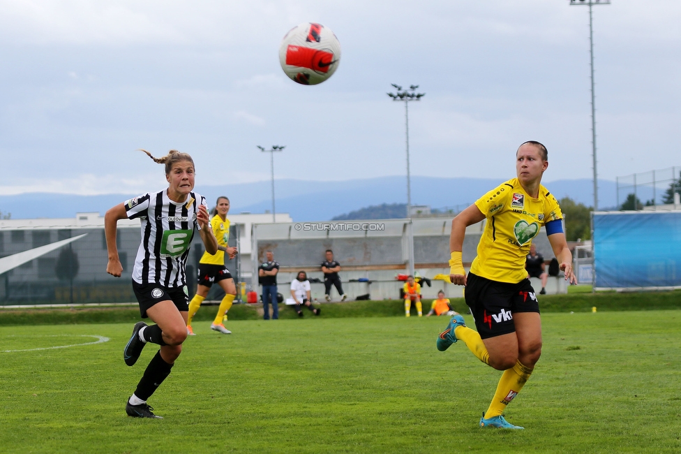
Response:
[{"label": "blue tarpaulin fence at the right edge of the pitch", "polygon": [[681,212],[593,214],[596,288],[681,287]]}]

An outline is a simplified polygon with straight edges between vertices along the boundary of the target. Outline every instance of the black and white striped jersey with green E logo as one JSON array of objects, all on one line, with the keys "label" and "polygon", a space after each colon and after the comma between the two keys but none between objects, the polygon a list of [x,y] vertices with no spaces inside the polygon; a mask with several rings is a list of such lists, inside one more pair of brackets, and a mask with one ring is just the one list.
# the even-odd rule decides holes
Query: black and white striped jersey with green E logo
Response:
[{"label": "black and white striped jersey with green E logo", "polygon": [[168,198],[167,189],[126,200],[128,219],[139,218],[142,223],[133,281],[166,287],[187,284],[185,265],[197,227],[198,204],[208,209],[206,198],[200,194],[191,192],[187,200],[177,203]]}]

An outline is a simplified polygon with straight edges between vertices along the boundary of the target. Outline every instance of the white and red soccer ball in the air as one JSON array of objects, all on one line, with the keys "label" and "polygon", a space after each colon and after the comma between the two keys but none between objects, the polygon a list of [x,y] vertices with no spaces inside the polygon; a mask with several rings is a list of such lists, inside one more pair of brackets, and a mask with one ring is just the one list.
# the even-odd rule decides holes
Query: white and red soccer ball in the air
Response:
[{"label": "white and red soccer ball in the air", "polygon": [[302,85],[317,85],[338,68],[340,43],[334,32],[322,24],[305,22],[292,28],[279,46],[284,73]]}]

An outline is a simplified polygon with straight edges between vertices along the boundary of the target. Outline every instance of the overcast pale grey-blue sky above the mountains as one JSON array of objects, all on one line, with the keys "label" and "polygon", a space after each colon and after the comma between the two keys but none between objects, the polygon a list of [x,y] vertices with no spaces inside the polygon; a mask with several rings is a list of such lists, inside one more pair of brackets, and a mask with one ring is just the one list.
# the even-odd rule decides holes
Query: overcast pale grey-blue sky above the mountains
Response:
[{"label": "overcast pale grey-blue sky above the mountains", "polygon": [[[681,2],[594,6],[599,177],[681,166]],[[278,61],[301,22],[343,49],[304,87]],[[165,185],[135,149],[190,153],[201,184],[275,177],[514,177],[544,142],[544,181],[590,178],[587,6],[569,0],[0,0],[0,194]],[[443,188],[442,190],[447,190]]]}]

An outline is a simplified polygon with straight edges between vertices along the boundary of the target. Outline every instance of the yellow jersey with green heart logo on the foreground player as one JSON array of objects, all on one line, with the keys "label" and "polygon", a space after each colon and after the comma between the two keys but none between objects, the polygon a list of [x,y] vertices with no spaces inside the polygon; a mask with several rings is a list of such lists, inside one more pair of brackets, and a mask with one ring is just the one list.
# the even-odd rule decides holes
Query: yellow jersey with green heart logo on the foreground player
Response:
[{"label": "yellow jersey with green heart logo on the foreground player", "polygon": [[551,223],[549,235],[562,232],[560,207],[544,186],[539,186],[539,197],[532,198],[514,178],[479,198],[475,206],[487,217],[487,224],[470,271],[486,279],[522,281],[527,277],[525,257],[539,228]]}]

